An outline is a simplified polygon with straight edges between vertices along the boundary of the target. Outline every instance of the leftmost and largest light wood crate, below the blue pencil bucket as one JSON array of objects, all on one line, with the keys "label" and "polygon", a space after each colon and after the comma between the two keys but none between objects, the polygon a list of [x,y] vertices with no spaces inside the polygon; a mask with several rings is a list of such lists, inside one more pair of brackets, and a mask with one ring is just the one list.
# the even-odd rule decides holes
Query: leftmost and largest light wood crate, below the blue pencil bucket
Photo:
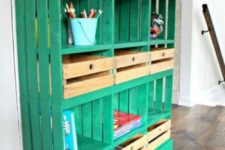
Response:
[{"label": "leftmost and largest light wood crate, below the blue pencil bucket", "polygon": [[91,55],[64,57],[64,98],[113,85],[112,68],[112,58]]}]

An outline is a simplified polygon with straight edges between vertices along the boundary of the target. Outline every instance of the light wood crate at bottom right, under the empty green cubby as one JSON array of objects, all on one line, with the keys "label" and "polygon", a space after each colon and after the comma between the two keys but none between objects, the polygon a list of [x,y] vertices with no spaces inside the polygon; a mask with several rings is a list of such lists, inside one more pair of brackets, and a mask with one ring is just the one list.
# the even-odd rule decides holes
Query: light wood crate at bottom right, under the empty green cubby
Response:
[{"label": "light wood crate at bottom right, under the empty green cubby", "polygon": [[159,123],[148,128],[147,141],[150,142],[160,134],[170,130],[171,120],[162,120]]}]

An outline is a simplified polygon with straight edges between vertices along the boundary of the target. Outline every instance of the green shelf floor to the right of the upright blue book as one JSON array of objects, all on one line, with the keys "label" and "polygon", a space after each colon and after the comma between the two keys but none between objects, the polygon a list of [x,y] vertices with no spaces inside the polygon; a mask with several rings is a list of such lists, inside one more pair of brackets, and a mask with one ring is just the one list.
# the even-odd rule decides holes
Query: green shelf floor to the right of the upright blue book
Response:
[{"label": "green shelf floor to the right of the upright blue book", "polygon": [[111,149],[111,145],[95,141],[91,138],[83,137],[83,136],[78,136],[78,149],[79,150],[108,150]]}]

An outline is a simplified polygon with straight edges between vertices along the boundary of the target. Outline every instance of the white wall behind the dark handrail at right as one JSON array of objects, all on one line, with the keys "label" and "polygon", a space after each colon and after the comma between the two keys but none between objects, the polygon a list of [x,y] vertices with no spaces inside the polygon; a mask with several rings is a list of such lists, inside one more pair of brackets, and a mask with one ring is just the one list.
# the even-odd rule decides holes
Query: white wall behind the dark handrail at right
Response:
[{"label": "white wall behind the dark handrail at right", "polygon": [[[182,16],[182,49],[181,49],[181,95],[179,103],[192,106],[194,104],[225,104],[225,89],[218,85],[222,79],[214,48],[206,22],[202,13],[202,4],[207,3],[214,27],[225,54],[225,6],[224,0],[183,0]],[[184,11],[186,6],[192,9]],[[188,23],[190,22],[190,23]],[[190,40],[191,39],[191,40]]]}]

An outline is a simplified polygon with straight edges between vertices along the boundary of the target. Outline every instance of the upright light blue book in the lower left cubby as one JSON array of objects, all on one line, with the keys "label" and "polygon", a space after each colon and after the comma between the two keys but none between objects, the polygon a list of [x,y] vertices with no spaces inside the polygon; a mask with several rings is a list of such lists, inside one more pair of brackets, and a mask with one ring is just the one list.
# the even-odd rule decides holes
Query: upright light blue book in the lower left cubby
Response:
[{"label": "upright light blue book in the lower left cubby", "polygon": [[78,150],[74,113],[63,112],[64,150]]}]

